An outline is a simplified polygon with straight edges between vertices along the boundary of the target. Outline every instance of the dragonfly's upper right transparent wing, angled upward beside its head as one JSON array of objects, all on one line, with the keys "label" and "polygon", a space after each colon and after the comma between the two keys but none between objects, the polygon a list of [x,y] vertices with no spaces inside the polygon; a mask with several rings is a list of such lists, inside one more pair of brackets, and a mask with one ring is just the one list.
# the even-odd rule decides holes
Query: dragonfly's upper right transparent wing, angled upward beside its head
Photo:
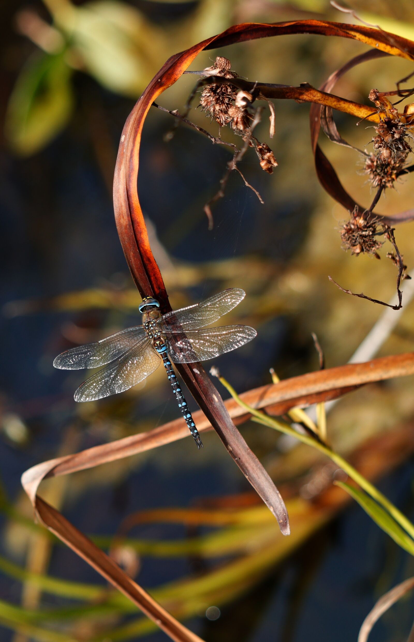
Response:
[{"label": "dragonfly's upper right transparent wing, angled upward beside its head", "polygon": [[188,308],[181,308],[163,315],[158,325],[162,334],[196,330],[214,323],[227,314],[245,298],[245,291],[240,288],[230,288],[215,294]]}]

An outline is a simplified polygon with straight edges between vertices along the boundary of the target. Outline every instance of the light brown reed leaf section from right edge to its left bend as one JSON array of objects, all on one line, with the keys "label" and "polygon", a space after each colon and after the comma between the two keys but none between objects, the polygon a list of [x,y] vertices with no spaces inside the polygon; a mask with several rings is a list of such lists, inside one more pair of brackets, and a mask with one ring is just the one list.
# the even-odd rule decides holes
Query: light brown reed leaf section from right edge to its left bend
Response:
[{"label": "light brown reed leaf section from right edge to its left bend", "polygon": [[[253,408],[266,408],[267,412],[282,415],[295,406],[303,408],[313,403],[334,399],[367,383],[410,374],[414,374],[414,352],[309,372],[291,379],[284,379],[276,384],[248,390],[239,396]],[[225,407],[230,417],[234,419],[245,421],[248,417],[245,410],[234,399],[227,399]],[[193,418],[200,432],[211,429],[209,419],[201,410],[193,413]],[[74,455],[37,464],[23,473],[22,485],[35,506],[37,489],[43,479],[108,464],[189,436],[191,435],[187,426],[180,417],[145,433],[124,437]]]}]

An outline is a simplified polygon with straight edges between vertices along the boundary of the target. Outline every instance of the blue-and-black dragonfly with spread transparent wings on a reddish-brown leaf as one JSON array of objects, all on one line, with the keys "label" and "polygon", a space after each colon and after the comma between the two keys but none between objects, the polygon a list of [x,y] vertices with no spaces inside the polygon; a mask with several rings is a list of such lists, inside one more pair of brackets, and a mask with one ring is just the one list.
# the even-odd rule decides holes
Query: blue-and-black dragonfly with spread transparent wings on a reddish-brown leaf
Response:
[{"label": "blue-and-black dragonfly with spread transparent wings on a reddish-brown leaf", "polygon": [[229,288],[187,308],[160,313],[160,304],[145,297],[139,305],[142,324],[128,327],[106,339],[80,345],[59,354],[53,365],[62,370],[105,366],[83,381],[75,401],[96,401],[124,392],[150,376],[164,364],[173,394],[191,435],[203,446],[173,363],[206,361],[245,345],[257,332],[248,325],[205,327],[218,321],[245,297],[240,288]]}]

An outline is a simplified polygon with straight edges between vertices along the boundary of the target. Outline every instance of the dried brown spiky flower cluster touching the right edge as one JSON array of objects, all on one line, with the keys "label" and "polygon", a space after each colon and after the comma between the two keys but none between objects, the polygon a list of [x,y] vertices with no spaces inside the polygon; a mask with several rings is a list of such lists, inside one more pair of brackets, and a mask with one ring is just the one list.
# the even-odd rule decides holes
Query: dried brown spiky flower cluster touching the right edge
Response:
[{"label": "dried brown spiky flower cluster touching the right edge", "polygon": [[365,173],[374,187],[393,187],[404,170],[406,158],[412,152],[410,139],[411,105],[400,116],[393,104],[377,89],[372,89],[370,100],[377,105],[381,121],[375,126],[372,138],[375,153],[365,161]]}]

